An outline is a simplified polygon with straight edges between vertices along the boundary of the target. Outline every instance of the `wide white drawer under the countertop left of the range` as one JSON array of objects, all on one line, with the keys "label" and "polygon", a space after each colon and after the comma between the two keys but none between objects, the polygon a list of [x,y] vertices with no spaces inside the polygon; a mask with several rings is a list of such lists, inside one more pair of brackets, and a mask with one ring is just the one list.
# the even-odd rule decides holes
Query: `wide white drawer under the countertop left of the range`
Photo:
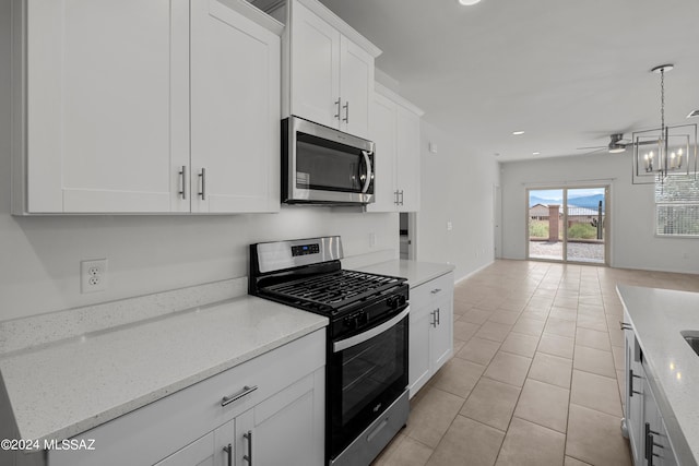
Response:
[{"label": "wide white drawer under the countertop left of the range", "polygon": [[[325,363],[325,330],[88,430],[94,451],[49,451],[49,466],[154,464]],[[250,391],[246,387],[257,386]],[[241,395],[223,406],[224,397]]]}]

